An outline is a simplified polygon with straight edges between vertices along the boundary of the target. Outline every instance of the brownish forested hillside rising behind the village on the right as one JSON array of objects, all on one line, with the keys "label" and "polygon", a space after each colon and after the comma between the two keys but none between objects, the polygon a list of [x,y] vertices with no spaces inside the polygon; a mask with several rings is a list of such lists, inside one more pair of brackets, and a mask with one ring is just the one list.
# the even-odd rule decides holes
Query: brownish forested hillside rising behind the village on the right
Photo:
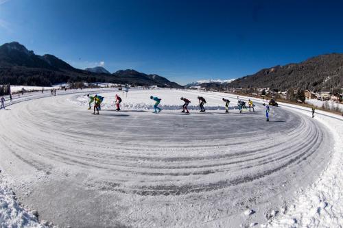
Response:
[{"label": "brownish forested hillside rising behind the village on the right", "polygon": [[228,88],[290,88],[311,90],[343,90],[343,53],[317,55],[299,63],[263,68],[253,75],[240,77]]}]

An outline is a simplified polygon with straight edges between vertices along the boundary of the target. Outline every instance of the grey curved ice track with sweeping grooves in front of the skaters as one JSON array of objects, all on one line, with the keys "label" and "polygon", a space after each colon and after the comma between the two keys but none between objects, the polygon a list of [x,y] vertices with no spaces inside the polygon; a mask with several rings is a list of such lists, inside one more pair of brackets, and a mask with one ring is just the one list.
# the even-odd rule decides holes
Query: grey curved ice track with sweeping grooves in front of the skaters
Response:
[{"label": "grey curved ice track with sweeping grooves in front of the skaters", "polygon": [[[71,212],[75,218],[54,215],[65,203],[52,203],[51,209],[43,205],[51,186],[115,202],[107,212],[116,212],[110,224],[200,226],[211,220],[225,223],[223,217],[239,216],[246,207],[285,203],[329,160],[327,129],[282,107],[273,108],[270,123],[261,110],[230,115],[103,110],[93,116],[67,102],[76,97],[27,101],[1,114],[6,120],[1,122],[1,154],[17,165],[8,173],[25,182],[16,190],[24,202],[45,210],[45,218],[62,225],[105,222],[80,223],[80,212]],[[37,173],[45,174],[43,180],[32,181]],[[26,191],[40,201],[25,197]],[[81,196],[62,201],[78,205]],[[189,205],[196,206],[189,211]],[[144,214],[151,217],[143,221]]]}]

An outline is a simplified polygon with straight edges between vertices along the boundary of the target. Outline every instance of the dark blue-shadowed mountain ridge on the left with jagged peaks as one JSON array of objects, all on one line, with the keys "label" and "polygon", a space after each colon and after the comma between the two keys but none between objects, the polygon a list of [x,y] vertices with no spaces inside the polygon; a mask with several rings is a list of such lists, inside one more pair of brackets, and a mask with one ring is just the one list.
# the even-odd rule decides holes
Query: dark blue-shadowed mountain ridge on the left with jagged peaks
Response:
[{"label": "dark blue-shadowed mountain ridge on the left with jagged peaks", "polygon": [[34,51],[27,50],[19,42],[9,42],[0,46],[0,84],[51,86],[76,81],[183,88],[165,77],[133,72],[133,70],[111,74],[74,68],[54,55],[36,55]]}]

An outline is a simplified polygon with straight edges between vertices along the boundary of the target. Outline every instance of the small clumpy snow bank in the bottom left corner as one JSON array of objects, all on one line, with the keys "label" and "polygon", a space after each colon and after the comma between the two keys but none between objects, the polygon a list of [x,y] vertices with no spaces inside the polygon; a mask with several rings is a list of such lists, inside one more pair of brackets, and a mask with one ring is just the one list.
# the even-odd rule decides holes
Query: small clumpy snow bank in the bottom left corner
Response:
[{"label": "small clumpy snow bank in the bottom left corner", "polygon": [[0,227],[39,227],[36,212],[27,212],[16,202],[15,194],[0,177]]}]

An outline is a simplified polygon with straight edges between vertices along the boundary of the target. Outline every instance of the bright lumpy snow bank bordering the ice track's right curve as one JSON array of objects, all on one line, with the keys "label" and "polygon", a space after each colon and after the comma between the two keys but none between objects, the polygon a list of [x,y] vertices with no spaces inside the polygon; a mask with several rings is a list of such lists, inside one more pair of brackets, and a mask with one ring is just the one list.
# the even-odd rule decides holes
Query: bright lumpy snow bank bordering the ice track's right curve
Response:
[{"label": "bright lumpy snow bank bordering the ice track's right curve", "polygon": [[[305,114],[304,111],[300,111]],[[328,112],[316,119],[333,131],[335,139],[331,163],[320,178],[305,190],[282,214],[261,227],[342,227],[343,225],[343,118]],[[332,116],[332,117],[329,117]]]}]

